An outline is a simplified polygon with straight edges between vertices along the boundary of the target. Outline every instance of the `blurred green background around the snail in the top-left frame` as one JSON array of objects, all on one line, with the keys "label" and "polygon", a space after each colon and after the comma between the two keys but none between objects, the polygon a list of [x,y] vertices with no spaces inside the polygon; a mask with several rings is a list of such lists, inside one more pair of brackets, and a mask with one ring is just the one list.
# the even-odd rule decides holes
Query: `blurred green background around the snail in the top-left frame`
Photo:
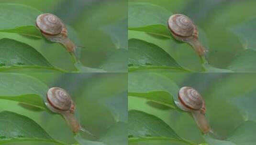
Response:
[{"label": "blurred green background around the snail in the top-left frame", "polygon": [[[77,32],[80,42],[76,41],[76,44],[85,47],[80,48],[81,62],[88,67],[99,68],[114,50],[120,49],[105,31],[106,27],[117,25],[113,31],[122,31],[121,41],[127,41],[127,0],[0,0],[1,3],[24,4],[60,17]],[[1,38],[25,42],[41,52],[50,63],[68,71],[74,70],[70,55],[59,44],[48,48],[42,40],[3,32]],[[127,66],[126,63],[123,65]]]}]

